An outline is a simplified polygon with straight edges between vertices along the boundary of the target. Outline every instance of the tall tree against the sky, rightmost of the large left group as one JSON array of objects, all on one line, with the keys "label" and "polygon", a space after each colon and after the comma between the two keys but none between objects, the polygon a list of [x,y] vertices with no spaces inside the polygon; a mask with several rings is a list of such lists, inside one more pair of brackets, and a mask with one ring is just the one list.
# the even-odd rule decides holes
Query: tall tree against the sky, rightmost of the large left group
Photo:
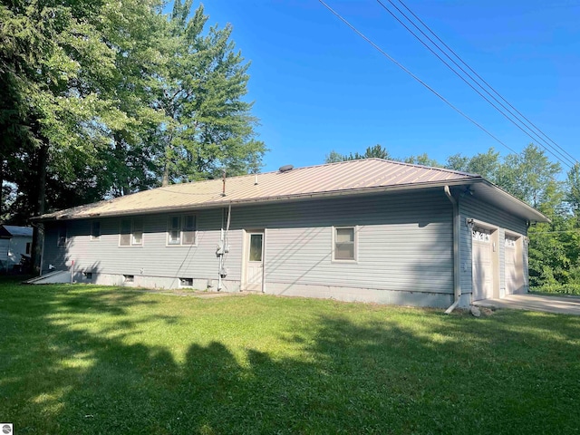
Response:
[{"label": "tall tree against the sky, rightmost of the large left group", "polygon": [[230,40],[232,28],[212,26],[202,5],[188,19],[192,1],[176,0],[169,19],[170,68],[162,77],[155,108],[165,120],[158,136],[164,145],[162,184],[255,172],[266,152],[256,140],[256,118],[250,114],[247,69]]}]

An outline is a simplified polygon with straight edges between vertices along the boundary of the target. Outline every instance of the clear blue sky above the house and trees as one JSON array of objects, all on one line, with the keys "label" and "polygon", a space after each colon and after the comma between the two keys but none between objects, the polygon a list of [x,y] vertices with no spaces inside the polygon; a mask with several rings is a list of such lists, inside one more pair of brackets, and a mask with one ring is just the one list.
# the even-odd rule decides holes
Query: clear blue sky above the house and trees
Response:
[{"label": "clear blue sky above the house and trees", "polygon": [[[449,102],[513,150],[532,142],[375,0],[327,0]],[[387,0],[383,3],[388,4]],[[197,5],[197,4],[196,4]],[[377,143],[397,158],[510,151],[364,42],[316,0],[208,0],[251,61],[248,99],[270,150],[263,170],[320,164]],[[558,145],[580,159],[580,1],[440,0],[407,5]],[[548,156],[556,161],[551,154]]]}]

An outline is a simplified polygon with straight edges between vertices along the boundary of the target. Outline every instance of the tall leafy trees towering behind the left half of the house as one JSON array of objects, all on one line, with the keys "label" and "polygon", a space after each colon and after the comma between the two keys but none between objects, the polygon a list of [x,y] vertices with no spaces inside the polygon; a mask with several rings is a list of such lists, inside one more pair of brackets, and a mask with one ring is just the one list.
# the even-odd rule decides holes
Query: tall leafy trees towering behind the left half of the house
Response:
[{"label": "tall leafy trees towering behind the left half of the house", "polygon": [[0,221],[261,167],[232,28],[162,7],[3,0]]}]

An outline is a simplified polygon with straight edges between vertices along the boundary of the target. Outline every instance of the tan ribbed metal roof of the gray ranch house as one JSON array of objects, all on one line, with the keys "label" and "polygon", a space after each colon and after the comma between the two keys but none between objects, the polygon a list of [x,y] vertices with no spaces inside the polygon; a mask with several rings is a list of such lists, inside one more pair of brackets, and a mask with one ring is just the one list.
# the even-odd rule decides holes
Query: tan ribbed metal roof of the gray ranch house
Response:
[{"label": "tan ribbed metal roof of the gray ranch house", "polygon": [[[480,180],[483,179],[478,175],[398,161],[349,160],[227,178],[225,195],[223,195],[223,180],[210,179],[145,190],[88,206],[60,210],[40,218],[92,218],[95,216],[224,207],[229,204],[463,185]],[[518,201],[516,198],[513,199]]]}]

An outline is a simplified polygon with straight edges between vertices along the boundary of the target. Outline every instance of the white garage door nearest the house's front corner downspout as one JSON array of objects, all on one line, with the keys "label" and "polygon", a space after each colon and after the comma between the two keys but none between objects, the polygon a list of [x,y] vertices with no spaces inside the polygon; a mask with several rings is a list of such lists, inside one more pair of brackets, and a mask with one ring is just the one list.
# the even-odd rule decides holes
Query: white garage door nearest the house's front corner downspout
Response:
[{"label": "white garage door nearest the house's front corner downspout", "polygon": [[491,231],[474,228],[472,231],[473,300],[493,297],[493,256]]}]

